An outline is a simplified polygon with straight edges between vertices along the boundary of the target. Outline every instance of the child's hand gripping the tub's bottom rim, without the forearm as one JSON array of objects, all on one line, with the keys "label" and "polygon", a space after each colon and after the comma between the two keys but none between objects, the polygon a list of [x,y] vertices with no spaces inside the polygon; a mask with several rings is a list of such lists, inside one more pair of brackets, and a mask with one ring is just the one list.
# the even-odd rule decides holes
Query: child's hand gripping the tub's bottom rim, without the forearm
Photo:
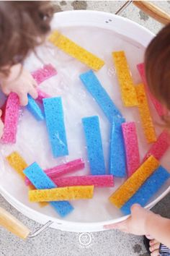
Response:
[{"label": "child's hand gripping the tub's bottom rim, without the forearm", "polygon": [[120,223],[105,225],[105,229],[120,229],[125,233],[131,233],[135,235],[147,234],[146,222],[148,218],[152,218],[154,213],[142,208],[140,205],[135,204],[131,207],[131,216],[125,221]]}]

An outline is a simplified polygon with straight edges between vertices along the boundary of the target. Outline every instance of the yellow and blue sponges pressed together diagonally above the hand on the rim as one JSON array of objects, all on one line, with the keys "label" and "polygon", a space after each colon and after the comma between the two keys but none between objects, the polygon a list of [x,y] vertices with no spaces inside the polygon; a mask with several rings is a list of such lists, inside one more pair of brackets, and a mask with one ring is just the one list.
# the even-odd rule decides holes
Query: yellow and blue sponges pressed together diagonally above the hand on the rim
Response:
[{"label": "yellow and blue sponges pressed together diagonally above the hand on the rim", "polygon": [[156,158],[151,155],[138,170],[109,197],[109,201],[117,208],[120,208],[124,213],[130,213],[130,207],[133,203],[138,202],[140,205],[144,206],[169,177],[170,174],[162,166],[159,166]]}]

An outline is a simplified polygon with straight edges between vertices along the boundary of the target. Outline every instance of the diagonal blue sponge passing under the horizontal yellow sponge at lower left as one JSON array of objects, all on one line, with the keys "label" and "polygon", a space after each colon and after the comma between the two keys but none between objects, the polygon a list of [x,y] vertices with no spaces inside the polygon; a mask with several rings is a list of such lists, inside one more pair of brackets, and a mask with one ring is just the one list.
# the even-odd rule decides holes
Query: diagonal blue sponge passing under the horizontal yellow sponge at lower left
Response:
[{"label": "diagonal blue sponge passing under the horizontal yellow sponge at lower left", "polygon": [[[36,162],[25,168],[23,172],[36,189],[53,189],[57,187]],[[67,201],[50,202],[50,205],[55,208],[61,217],[65,217],[73,210],[73,206]]]}]

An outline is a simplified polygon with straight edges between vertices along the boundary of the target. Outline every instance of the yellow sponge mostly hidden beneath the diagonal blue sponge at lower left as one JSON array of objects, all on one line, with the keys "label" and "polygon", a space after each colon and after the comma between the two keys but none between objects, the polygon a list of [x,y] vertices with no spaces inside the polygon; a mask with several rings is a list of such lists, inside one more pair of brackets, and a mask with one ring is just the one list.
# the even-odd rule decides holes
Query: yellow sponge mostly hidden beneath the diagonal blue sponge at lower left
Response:
[{"label": "yellow sponge mostly hidden beneath the diagonal blue sponge at lower left", "polygon": [[[22,179],[25,178],[25,175],[23,173],[24,168],[27,168],[27,163],[24,161],[21,155],[17,153],[17,151],[12,152],[10,155],[6,156],[6,160],[8,161],[9,165],[14,168],[15,171],[22,177]],[[29,189],[35,189],[33,185],[29,186]],[[45,205],[48,205],[48,202],[40,202],[40,207],[44,207]]]}]

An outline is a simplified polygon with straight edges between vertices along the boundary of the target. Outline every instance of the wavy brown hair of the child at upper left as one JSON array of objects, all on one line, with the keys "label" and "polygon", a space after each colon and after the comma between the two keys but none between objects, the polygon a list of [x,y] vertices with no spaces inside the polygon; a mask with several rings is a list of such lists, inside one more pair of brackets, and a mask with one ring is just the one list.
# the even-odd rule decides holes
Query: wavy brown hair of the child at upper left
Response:
[{"label": "wavy brown hair of the child at upper left", "polygon": [[0,72],[42,43],[52,17],[50,1],[0,1]]}]

